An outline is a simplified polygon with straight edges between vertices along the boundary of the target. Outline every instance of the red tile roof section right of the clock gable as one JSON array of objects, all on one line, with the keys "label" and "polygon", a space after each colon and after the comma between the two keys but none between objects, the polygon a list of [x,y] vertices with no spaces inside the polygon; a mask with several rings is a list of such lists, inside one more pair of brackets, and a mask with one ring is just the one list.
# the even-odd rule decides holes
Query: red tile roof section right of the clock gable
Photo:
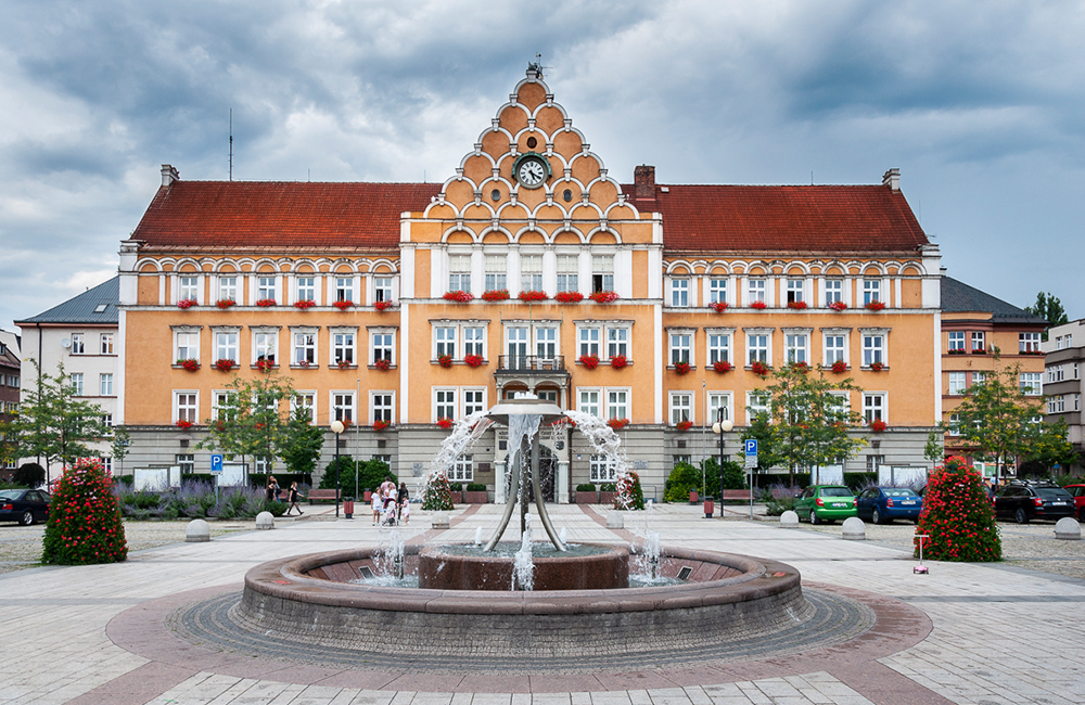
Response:
[{"label": "red tile roof section right of the clock gable", "polygon": [[663,214],[663,244],[674,251],[912,252],[929,242],[904,194],[886,185],[656,184],[654,200],[630,203]]}]

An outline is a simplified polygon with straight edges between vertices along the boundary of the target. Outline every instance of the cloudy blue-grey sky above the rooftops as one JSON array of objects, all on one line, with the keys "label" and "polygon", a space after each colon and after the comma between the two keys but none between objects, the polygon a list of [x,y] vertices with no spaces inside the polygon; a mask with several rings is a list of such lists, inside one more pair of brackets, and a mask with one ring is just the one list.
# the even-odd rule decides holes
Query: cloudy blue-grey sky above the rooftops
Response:
[{"label": "cloudy blue-grey sky above the rooftops", "polygon": [[878,183],[949,274],[1085,316],[1085,4],[0,0],[0,328],[183,179],[441,181],[542,54],[612,176]]}]

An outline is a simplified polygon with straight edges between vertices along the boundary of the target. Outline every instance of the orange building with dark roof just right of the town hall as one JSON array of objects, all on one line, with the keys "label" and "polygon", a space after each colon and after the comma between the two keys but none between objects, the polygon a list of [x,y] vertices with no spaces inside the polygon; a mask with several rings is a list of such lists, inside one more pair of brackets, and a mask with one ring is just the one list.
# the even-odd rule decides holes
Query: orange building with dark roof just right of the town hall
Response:
[{"label": "orange building with dark roof just right of the town hall", "polygon": [[1001,367],[1020,366],[1018,384],[1024,394],[1043,395],[1041,338],[1046,326],[1038,316],[952,277],[942,277],[942,410],[949,428],[945,434],[946,456],[963,456],[987,476],[995,476],[994,463],[974,458],[974,449],[961,443],[954,431],[954,409],[963,401],[966,389],[982,383],[995,369],[996,349]]}]

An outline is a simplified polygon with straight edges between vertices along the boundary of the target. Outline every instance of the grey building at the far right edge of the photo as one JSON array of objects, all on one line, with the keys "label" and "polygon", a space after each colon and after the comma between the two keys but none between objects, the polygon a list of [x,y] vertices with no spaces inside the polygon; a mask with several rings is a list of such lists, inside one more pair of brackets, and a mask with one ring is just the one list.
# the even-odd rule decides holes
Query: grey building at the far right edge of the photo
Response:
[{"label": "grey building at the far right edge of the photo", "polygon": [[[1044,343],[1044,394],[1047,414],[1044,421],[1067,422],[1069,440],[1077,453],[1085,453],[1085,431],[1082,427],[1082,367],[1085,366],[1085,319],[1056,325],[1047,332]],[[1068,469],[1082,473],[1078,463]]]}]

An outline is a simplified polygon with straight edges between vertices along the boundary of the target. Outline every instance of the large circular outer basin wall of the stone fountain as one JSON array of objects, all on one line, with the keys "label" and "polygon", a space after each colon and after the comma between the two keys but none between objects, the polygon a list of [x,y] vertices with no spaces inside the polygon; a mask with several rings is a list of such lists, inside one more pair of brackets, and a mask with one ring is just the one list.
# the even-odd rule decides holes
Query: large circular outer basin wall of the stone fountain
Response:
[{"label": "large circular outer basin wall of the stone fountain", "polygon": [[[664,548],[661,575],[689,568],[678,585],[521,592],[352,582],[379,557],[361,548],[256,566],[231,619],[254,636],[386,655],[598,658],[780,632],[814,612],[795,568],[713,551]],[[404,563],[418,571],[419,547]]]}]

